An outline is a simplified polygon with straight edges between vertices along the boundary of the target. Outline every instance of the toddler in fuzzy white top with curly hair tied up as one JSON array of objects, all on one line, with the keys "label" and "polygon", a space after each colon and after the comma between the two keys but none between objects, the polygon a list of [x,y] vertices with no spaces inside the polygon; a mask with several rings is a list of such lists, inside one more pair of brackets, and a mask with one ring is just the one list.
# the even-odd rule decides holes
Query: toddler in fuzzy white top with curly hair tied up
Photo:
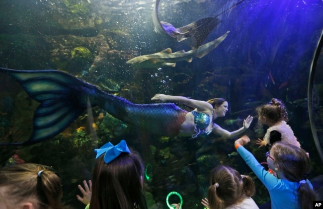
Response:
[{"label": "toddler in fuzzy white top with curly hair tied up", "polygon": [[285,105],[278,99],[271,99],[268,104],[258,107],[258,120],[260,123],[269,126],[264,139],[257,139],[256,144],[267,146],[270,149],[271,145],[276,141],[285,141],[301,147],[300,142],[294,136],[294,132],[289,125],[288,113]]}]

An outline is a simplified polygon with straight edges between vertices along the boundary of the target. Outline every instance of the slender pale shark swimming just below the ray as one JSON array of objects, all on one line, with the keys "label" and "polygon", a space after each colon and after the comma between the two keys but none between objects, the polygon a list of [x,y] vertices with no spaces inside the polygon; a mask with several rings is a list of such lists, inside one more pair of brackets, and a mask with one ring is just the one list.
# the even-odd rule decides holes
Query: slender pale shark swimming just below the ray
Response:
[{"label": "slender pale shark swimming just below the ray", "polygon": [[193,57],[202,58],[215,49],[227,37],[230,31],[227,31],[219,38],[210,41],[197,49],[192,49],[188,52],[184,50],[172,53],[170,48],[164,49],[149,55],[142,55],[127,61],[127,64],[134,64],[141,68],[159,68],[161,66],[175,67],[177,62],[186,61],[192,62]]}]

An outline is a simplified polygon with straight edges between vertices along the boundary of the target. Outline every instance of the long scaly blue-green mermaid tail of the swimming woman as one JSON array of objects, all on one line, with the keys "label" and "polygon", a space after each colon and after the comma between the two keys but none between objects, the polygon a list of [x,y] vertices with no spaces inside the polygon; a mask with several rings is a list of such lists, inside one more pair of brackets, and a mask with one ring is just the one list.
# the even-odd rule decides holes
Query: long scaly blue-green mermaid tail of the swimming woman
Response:
[{"label": "long scaly blue-green mermaid tail of the swimming woman", "polygon": [[31,137],[25,142],[0,145],[25,145],[51,139],[90,108],[88,102],[125,123],[161,136],[178,135],[187,113],[171,103],[133,104],[58,70],[0,68],[0,72],[15,78],[40,103],[34,113]]}]

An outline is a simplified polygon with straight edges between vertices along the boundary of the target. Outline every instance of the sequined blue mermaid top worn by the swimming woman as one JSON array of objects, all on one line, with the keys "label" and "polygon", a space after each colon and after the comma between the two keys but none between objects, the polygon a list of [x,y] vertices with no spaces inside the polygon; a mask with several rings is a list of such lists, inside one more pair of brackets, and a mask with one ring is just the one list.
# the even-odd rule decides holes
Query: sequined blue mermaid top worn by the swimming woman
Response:
[{"label": "sequined blue mermaid top worn by the swimming woman", "polygon": [[194,116],[194,132],[192,138],[197,138],[199,135],[209,135],[212,132],[211,129],[207,129],[210,125],[212,115],[207,115],[205,113],[199,113],[196,111],[191,112]]}]

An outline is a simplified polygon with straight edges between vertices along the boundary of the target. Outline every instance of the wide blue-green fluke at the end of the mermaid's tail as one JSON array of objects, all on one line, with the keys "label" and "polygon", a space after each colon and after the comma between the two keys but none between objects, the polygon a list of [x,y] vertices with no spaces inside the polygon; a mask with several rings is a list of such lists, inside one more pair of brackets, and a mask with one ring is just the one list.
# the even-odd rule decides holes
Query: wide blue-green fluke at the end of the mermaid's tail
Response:
[{"label": "wide blue-green fluke at the end of the mermaid's tail", "polygon": [[40,105],[35,111],[33,132],[25,142],[0,145],[25,145],[51,139],[64,131],[84,110],[87,83],[58,70],[11,70],[0,68],[19,82]]}]

